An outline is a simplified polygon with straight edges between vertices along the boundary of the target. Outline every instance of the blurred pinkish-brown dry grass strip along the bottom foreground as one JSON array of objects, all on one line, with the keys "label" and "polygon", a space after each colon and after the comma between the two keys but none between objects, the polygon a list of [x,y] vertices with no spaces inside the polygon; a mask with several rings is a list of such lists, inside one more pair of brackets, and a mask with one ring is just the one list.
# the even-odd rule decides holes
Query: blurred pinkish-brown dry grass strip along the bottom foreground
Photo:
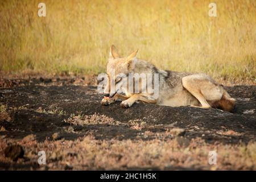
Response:
[{"label": "blurred pinkish-brown dry grass strip along the bottom foreground", "polygon": [[[11,142],[9,140],[9,142]],[[14,142],[14,141],[13,141]],[[17,141],[16,141],[17,142]],[[174,140],[96,140],[86,136],[76,141],[51,142],[19,140],[25,156],[16,164],[37,164],[38,151],[46,151],[46,166],[42,169],[210,169],[255,170],[256,144],[207,144],[200,138],[192,139],[188,146]],[[0,142],[0,151],[7,146]],[[200,146],[200,147],[199,147]],[[217,165],[209,165],[209,151],[217,152]],[[0,153],[0,162],[14,164]],[[12,166],[10,165],[9,169]],[[32,165],[31,165],[32,167]],[[44,168],[46,167],[46,168]],[[32,169],[32,168],[31,168]]]}]

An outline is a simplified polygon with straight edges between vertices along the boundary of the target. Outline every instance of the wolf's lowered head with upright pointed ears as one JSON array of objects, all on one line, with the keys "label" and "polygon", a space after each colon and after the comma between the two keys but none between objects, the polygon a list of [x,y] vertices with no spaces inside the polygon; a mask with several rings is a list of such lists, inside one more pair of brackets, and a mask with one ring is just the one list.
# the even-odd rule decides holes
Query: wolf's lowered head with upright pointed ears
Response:
[{"label": "wolf's lowered head with upright pointed ears", "polygon": [[[110,47],[109,60],[107,65],[108,84],[105,86],[104,96],[113,97],[120,89],[120,85],[123,85],[124,81],[131,73],[136,64],[137,51],[134,51],[127,57],[119,56],[117,48],[114,45]],[[115,86],[115,89],[111,87]]]}]

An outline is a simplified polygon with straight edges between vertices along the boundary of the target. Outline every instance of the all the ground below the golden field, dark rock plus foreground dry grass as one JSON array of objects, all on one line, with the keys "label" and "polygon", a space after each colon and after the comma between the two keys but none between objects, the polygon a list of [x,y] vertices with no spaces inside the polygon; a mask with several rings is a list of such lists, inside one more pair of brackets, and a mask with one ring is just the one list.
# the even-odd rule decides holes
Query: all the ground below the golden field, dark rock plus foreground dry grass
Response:
[{"label": "all the ground below the golden field, dark rock plus foreground dry grass", "polygon": [[[1,169],[255,169],[256,86],[226,87],[237,99],[228,113],[102,106],[97,87],[82,78],[38,79],[0,88]],[[13,144],[24,148],[17,161],[4,154]],[[42,150],[44,166],[37,163]],[[208,164],[210,150],[218,151],[217,167]]]}]

